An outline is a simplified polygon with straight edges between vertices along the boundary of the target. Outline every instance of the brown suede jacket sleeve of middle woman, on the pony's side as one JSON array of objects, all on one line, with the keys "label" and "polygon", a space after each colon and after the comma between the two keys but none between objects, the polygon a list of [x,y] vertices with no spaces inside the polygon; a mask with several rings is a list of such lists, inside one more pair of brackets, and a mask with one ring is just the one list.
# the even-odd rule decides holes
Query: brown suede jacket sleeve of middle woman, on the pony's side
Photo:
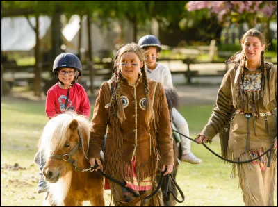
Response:
[{"label": "brown suede jacket sleeve of middle woman, on the pony's side", "polygon": [[104,82],[99,87],[90,129],[89,158],[100,158],[101,144],[108,124],[108,111],[105,104],[110,97],[109,84]]}]

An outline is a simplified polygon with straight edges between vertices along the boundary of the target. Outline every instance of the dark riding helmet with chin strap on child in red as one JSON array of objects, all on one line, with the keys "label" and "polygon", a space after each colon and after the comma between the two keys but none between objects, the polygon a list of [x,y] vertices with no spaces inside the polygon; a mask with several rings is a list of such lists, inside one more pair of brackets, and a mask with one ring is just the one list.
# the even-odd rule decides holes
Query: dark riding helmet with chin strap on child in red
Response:
[{"label": "dark riding helmet with chin strap on child in red", "polygon": [[76,82],[76,80],[78,79],[78,77],[81,76],[81,72],[82,72],[82,65],[81,65],[79,58],[72,53],[61,53],[60,55],[58,55],[55,58],[54,63],[53,63],[54,76],[58,79],[58,81],[62,85],[65,85],[58,78],[58,70],[63,67],[70,67],[79,72],[79,75],[78,76],[75,75],[74,81],[72,81],[71,85],[73,85]]}]

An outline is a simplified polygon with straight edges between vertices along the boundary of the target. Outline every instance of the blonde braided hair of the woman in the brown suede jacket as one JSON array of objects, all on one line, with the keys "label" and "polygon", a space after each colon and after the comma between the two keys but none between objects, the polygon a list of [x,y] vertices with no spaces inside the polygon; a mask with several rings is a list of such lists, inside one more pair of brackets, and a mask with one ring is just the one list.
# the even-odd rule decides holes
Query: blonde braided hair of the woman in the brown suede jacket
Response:
[{"label": "blonde braided hair of the woman in the brown suede jacket", "polygon": [[[108,104],[106,104],[106,108],[109,108],[111,106],[115,106],[115,115],[117,116],[117,119],[122,123],[124,119],[126,118],[125,113],[124,113],[124,106],[122,104],[122,101],[120,99],[120,94],[122,91],[122,84],[126,81],[126,79],[122,76],[122,72],[120,71],[120,58],[124,53],[127,52],[133,52],[136,53],[138,56],[139,60],[141,62],[144,62],[145,55],[144,51],[140,49],[138,44],[136,43],[129,43],[125,44],[124,46],[120,47],[120,49],[117,51],[117,55],[115,57],[115,62],[114,62],[114,68],[113,68],[113,74],[111,78],[111,100]],[[151,101],[149,100],[149,85],[147,83],[147,74],[146,74],[146,68],[145,68],[145,63],[143,64],[143,67],[140,69],[140,73],[142,75],[142,81],[144,85],[144,92],[145,92],[145,98],[146,98],[146,116],[147,120],[151,121],[153,117],[153,110],[152,110],[152,104]]]}]

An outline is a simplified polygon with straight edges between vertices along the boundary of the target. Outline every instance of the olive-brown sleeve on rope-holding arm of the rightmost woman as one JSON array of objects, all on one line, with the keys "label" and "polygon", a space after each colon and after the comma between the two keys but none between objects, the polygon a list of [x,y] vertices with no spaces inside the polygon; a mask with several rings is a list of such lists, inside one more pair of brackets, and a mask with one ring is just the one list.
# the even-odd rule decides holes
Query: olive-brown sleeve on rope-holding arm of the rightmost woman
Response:
[{"label": "olive-brown sleeve on rope-holding arm of the rightmost woman", "polygon": [[208,124],[204,126],[201,132],[201,134],[204,134],[207,138],[212,139],[217,133],[222,131],[233,115],[234,107],[231,88],[234,78],[231,77],[232,71],[233,69],[230,69],[224,75],[211,117],[208,119]]}]

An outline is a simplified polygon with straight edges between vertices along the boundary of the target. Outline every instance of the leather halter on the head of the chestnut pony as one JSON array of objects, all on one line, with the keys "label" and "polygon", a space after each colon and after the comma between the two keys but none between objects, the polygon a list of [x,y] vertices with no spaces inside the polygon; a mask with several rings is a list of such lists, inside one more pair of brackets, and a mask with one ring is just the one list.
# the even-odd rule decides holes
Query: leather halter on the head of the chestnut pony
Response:
[{"label": "leather halter on the head of the chestnut pony", "polygon": [[83,155],[85,156],[86,160],[89,160],[88,157],[85,155],[83,138],[82,138],[82,134],[79,130],[78,130],[78,134],[79,134],[79,141],[80,142],[77,142],[75,147],[72,148],[72,150],[69,153],[67,153],[67,154],[53,154],[52,156],[49,157],[49,159],[50,158],[56,158],[56,159],[59,159],[59,160],[64,160],[65,162],[69,162],[70,164],[74,165],[74,170],[76,170],[78,172],[84,172],[84,171],[89,171],[89,170],[91,171],[92,166],[88,169],[79,168],[79,167],[77,167],[76,160],[72,160],[72,158],[71,158],[76,153],[77,149],[79,147],[81,147],[82,151],[83,151]]}]

